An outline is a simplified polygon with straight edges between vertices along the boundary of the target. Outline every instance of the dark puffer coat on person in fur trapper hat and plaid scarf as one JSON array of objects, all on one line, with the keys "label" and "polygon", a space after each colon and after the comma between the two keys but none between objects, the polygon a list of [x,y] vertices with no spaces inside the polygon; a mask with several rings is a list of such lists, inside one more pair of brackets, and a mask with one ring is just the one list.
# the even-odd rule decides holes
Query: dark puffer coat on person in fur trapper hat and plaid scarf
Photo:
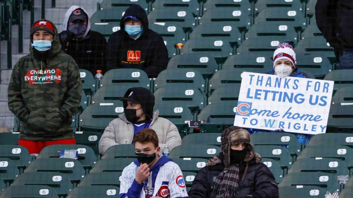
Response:
[{"label": "dark puffer coat on person in fur trapper hat and plaid scarf", "polygon": [[[223,153],[219,154],[223,161]],[[233,198],[278,198],[278,187],[271,171],[263,163],[256,163],[255,157],[249,161],[244,181],[246,163],[239,167],[239,188]],[[224,169],[223,164],[203,167],[196,175],[189,191],[189,198],[215,198],[213,182]]]}]

